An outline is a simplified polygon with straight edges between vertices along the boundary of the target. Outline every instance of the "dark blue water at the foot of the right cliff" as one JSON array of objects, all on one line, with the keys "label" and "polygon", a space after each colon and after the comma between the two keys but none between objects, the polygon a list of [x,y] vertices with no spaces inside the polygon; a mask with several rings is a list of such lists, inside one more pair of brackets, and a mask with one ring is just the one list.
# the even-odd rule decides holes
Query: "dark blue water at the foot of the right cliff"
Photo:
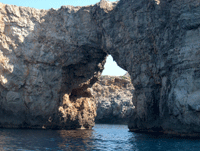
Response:
[{"label": "dark blue water at the foot of the right cliff", "polygon": [[[199,139],[174,137],[161,133],[129,132],[130,144],[135,144],[138,151],[199,151]],[[134,150],[134,148],[133,148]]]}]

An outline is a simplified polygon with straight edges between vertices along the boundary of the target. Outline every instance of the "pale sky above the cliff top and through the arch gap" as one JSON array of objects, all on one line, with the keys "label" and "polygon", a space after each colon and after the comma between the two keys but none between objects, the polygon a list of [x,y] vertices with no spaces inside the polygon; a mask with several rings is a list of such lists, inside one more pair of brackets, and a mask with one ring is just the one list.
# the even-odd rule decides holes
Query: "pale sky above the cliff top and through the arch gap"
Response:
[{"label": "pale sky above the cliff top and through the arch gap", "polygon": [[[37,9],[60,8],[62,5],[86,6],[98,3],[100,0],[0,0],[1,3]],[[117,0],[110,0],[111,2]],[[108,56],[102,75],[122,76],[126,73],[120,68],[112,56]]]}]

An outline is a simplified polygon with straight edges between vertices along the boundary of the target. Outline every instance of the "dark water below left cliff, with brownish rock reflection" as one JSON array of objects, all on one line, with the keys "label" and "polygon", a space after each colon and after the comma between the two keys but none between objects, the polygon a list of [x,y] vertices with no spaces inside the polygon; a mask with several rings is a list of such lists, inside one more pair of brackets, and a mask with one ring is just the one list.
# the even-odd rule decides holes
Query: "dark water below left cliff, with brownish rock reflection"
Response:
[{"label": "dark water below left cliff, with brownish rock reflection", "polygon": [[[85,150],[93,130],[0,129],[0,150]],[[88,145],[89,144],[89,145]]]}]

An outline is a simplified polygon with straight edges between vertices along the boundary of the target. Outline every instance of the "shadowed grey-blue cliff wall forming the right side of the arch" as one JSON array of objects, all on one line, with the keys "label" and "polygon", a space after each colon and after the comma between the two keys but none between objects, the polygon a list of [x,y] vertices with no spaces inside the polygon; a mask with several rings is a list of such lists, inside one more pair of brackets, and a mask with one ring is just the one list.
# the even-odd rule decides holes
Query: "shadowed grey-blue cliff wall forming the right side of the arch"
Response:
[{"label": "shadowed grey-blue cliff wall forming the right side of the arch", "polygon": [[104,48],[131,75],[131,131],[197,135],[200,2],[121,0],[103,20]]}]

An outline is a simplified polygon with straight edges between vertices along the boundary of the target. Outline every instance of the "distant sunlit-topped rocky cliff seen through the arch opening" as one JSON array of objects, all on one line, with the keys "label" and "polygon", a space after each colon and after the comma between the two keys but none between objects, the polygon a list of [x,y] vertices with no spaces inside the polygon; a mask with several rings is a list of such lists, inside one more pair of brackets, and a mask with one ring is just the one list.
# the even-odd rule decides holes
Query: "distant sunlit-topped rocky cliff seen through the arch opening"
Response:
[{"label": "distant sunlit-topped rocky cliff seen through the arch opening", "polygon": [[93,86],[96,100],[96,123],[127,124],[134,111],[130,77],[101,76]]}]

